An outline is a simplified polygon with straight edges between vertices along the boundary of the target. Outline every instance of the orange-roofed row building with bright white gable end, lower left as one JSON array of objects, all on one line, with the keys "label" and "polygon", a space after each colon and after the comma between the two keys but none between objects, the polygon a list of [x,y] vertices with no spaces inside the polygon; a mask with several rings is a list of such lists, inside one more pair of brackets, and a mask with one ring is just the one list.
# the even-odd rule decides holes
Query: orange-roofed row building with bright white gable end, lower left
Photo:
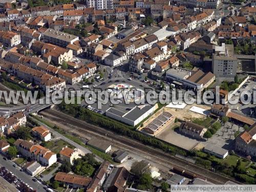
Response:
[{"label": "orange-roofed row building with bright white gable end, lower left", "polygon": [[34,145],[34,143],[23,139],[17,139],[14,145],[20,154],[31,160],[36,160],[44,166],[51,166],[57,162],[56,154],[41,145]]}]

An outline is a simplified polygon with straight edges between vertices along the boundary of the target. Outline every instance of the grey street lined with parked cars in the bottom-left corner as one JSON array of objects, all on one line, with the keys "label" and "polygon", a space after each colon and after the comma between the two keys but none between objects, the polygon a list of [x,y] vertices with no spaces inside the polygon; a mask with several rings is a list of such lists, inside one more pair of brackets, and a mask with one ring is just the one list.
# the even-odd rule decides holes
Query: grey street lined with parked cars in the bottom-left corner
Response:
[{"label": "grey street lined with parked cars in the bottom-left corner", "polygon": [[45,191],[43,188],[44,185],[40,184],[39,182],[32,181],[32,177],[26,174],[25,172],[20,172],[19,167],[13,167],[13,162],[10,160],[4,160],[3,156],[0,155],[0,165],[5,166],[9,172],[12,172],[17,178],[22,179],[25,183],[27,183],[30,187],[33,189],[36,189],[37,191]]}]

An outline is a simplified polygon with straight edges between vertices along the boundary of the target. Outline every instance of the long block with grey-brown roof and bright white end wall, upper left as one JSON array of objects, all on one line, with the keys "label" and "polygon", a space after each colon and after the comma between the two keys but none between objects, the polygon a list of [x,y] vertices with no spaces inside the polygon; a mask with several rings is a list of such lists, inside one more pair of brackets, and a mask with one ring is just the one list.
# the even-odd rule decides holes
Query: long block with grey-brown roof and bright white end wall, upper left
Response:
[{"label": "long block with grey-brown roof and bright white end wall, upper left", "polygon": [[44,33],[45,42],[63,48],[66,48],[67,45],[73,44],[77,40],[79,40],[78,36],[60,32],[54,29],[47,29],[47,31]]}]

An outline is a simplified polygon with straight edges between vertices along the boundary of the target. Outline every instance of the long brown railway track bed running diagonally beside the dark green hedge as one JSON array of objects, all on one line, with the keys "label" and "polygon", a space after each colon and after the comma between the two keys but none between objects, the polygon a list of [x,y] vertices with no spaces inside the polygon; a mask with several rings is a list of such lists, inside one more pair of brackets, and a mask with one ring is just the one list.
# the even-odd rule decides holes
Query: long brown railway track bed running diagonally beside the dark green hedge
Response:
[{"label": "long brown railway track bed running diagonally beside the dark green hedge", "polygon": [[[67,115],[65,113],[62,113],[62,112],[59,112],[56,110],[45,110],[43,115],[51,120],[58,121],[62,124],[73,125],[72,128],[79,131],[80,133],[86,133],[86,134],[94,135],[96,137],[99,137],[99,135],[108,136],[109,138],[113,139],[112,142],[118,141],[117,144],[119,146],[120,146],[120,143],[122,143],[121,145],[123,145],[125,148],[131,148],[131,150],[133,150],[133,151],[138,150],[139,153],[146,152],[145,155],[150,156],[159,162],[162,162],[162,163],[170,165],[170,166],[177,166],[177,167],[183,168],[185,170],[188,170],[189,172],[195,173],[197,176],[206,178],[208,181],[210,181],[212,183],[224,184],[227,181],[233,181],[233,182],[242,184],[234,179],[211,172],[208,169],[205,169],[203,167],[200,167],[198,165],[195,165],[195,164],[185,161],[183,159],[177,158],[170,154],[166,154],[156,148],[146,146],[140,142],[137,142],[137,141],[132,140],[127,137],[116,135],[113,132],[110,132],[101,127],[89,124],[85,121],[75,119],[74,117]],[[64,119],[65,119],[65,121],[63,121]],[[76,126],[76,127],[74,127],[74,126]],[[99,135],[93,134],[92,132],[97,133]],[[101,137],[101,138],[105,139],[104,137]]]}]

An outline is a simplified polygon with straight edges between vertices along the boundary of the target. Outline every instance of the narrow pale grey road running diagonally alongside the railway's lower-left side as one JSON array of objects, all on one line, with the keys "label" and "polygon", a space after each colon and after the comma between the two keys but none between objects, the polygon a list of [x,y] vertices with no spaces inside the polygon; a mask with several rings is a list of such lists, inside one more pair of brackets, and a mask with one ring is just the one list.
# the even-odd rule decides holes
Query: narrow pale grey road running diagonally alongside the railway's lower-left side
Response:
[{"label": "narrow pale grey road running diagonally alongside the railway's lower-left side", "polygon": [[[34,119],[34,118],[32,118],[32,119]],[[83,147],[83,146],[77,144],[76,142],[74,142],[74,141],[68,139],[67,137],[65,137],[65,136],[63,136],[63,135],[61,135],[61,134],[59,134],[58,132],[54,131],[53,129],[51,129],[51,127],[47,126],[46,124],[41,123],[40,121],[38,121],[38,120],[36,120],[36,119],[34,119],[34,120],[37,121],[40,125],[44,125],[45,127],[47,127],[47,129],[50,130],[50,132],[54,135],[54,137],[58,137],[58,138],[62,139],[63,141],[68,142],[69,144],[73,145],[74,147],[76,147],[78,150],[81,150],[81,151],[82,151],[83,153],[85,153],[85,154],[87,154],[87,153],[92,153],[90,150],[88,150],[88,148]],[[63,120],[65,121],[65,119],[63,119]],[[98,156],[96,156],[95,159],[96,159],[97,161],[103,162],[103,159],[100,158],[100,157],[98,157]]]}]

